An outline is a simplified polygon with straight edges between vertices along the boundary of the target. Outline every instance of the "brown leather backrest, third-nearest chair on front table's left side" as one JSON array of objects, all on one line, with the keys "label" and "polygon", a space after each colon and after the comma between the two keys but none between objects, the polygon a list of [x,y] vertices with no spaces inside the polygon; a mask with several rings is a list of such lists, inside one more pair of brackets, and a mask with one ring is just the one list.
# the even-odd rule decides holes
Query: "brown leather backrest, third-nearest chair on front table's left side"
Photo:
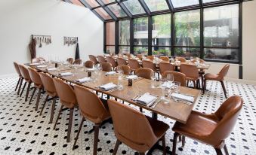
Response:
[{"label": "brown leather backrest, third-nearest chair on front table's left side", "polygon": [[77,102],[76,95],[72,87],[69,84],[66,84],[65,81],[58,78],[54,78],[53,80],[60,102],[67,108],[74,108]]}]

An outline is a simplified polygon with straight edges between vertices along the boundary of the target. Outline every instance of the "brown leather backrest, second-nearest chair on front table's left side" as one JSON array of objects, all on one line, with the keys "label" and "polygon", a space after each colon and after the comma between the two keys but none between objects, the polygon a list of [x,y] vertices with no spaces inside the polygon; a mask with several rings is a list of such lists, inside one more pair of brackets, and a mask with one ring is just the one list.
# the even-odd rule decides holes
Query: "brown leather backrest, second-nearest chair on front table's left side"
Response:
[{"label": "brown leather backrest, second-nearest chair on front table's left side", "polygon": [[74,86],[76,99],[82,116],[94,123],[101,123],[103,117],[109,112],[100,101],[99,97],[85,87]]}]

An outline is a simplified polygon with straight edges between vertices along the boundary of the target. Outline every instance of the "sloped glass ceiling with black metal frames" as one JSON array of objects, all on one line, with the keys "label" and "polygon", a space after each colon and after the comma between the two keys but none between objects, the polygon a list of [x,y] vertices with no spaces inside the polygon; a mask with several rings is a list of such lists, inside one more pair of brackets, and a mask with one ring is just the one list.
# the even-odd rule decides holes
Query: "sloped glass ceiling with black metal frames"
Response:
[{"label": "sloped glass ceiling with black metal frames", "polygon": [[[237,4],[240,0],[63,0],[84,5],[104,21]],[[245,1],[245,0],[244,0]],[[200,3],[202,2],[202,3]]]}]

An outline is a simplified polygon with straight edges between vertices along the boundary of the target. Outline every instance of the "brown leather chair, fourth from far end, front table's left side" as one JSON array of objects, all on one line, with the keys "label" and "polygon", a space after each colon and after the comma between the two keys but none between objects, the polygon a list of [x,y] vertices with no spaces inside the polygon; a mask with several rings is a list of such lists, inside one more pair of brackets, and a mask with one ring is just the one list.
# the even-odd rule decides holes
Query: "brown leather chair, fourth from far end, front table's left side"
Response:
[{"label": "brown leather chair, fourth from far end, front table's left side", "polygon": [[[53,99],[53,103],[51,105],[51,117],[50,117],[50,122],[49,122],[49,123],[52,123],[52,120],[54,119],[54,109],[55,109],[55,104],[56,104],[56,99],[57,99],[57,92],[56,92],[56,89],[54,86],[53,78],[51,78],[50,75],[43,73],[43,72],[39,73],[39,75],[40,75],[42,84],[44,86],[44,90],[47,93],[45,101],[46,102],[48,101],[49,96],[51,96],[51,99]],[[42,111],[44,111],[46,102],[44,103],[44,105],[42,107],[40,115],[42,115]]]}]

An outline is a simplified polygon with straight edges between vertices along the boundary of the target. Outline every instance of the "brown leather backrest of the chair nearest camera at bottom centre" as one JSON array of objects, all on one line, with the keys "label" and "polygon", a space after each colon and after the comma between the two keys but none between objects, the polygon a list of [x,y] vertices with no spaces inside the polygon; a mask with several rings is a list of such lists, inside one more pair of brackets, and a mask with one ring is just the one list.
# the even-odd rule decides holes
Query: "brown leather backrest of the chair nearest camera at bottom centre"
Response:
[{"label": "brown leather backrest of the chair nearest camera at bottom centre", "polygon": [[120,141],[136,150],[152,146],[153,141],[156,141],[156,135],[147,117],[113,99],[108,100],[108,105],[113,118],[114,132]]}]

